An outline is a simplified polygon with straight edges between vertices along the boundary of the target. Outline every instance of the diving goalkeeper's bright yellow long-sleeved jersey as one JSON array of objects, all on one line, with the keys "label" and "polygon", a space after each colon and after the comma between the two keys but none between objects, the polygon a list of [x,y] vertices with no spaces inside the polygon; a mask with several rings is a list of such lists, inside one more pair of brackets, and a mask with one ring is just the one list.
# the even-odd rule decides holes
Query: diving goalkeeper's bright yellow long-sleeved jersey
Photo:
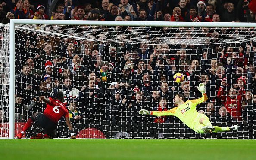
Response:
[{"label": "diving goalkeeper's bright yellow long-sleeved jersey", "polygon": [[170,109],[168,111],[152,111],[151,115],[162,116],[162,115],[174,115],[178,117],[184,124],[194,130],[195,124],[197,121],[198,112],[196,106],[199,103],[205,102],[207,100],[206,93],[203,94],[203,97],[196,100],[187,100],[182,105]]}]

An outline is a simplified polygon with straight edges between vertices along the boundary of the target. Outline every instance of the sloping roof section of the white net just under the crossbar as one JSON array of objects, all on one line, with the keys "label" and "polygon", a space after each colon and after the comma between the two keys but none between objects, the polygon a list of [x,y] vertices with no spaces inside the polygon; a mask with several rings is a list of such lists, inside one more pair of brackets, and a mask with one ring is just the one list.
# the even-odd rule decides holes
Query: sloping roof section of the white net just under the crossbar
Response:
[{"label": "sloping roof section of the white net just under the crossbar", "polygon": [[146,42],[179,45],[216,44],[253,41],[255,28],[222,27],[128,27],[128,26],[66,26],[19,24],[17,30],[48,36],[59,36],[93,41],[126,42],[140,44]]}]

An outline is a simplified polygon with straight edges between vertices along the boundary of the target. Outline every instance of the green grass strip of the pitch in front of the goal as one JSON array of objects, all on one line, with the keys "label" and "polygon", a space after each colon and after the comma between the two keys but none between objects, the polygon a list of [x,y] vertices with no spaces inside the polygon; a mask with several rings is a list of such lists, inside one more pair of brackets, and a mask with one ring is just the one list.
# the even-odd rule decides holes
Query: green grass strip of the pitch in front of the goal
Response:
[{"label": "green grass strip of the pitch in front of the goal", "polygon": [[255,160],[255,140],[2,139],[0,157],[16,160]]}]

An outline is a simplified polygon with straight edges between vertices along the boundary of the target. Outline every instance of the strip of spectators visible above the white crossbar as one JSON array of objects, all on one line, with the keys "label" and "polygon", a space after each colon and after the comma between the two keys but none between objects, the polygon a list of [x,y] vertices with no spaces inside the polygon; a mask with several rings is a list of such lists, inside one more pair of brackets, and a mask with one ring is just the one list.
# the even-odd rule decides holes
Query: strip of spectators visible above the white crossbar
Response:
[{"label": "strip of spectators visible above the white crossbar", "polygon": [[0,0],[2,23],[11,18],[255,22],[255,14],[256,0]]}]

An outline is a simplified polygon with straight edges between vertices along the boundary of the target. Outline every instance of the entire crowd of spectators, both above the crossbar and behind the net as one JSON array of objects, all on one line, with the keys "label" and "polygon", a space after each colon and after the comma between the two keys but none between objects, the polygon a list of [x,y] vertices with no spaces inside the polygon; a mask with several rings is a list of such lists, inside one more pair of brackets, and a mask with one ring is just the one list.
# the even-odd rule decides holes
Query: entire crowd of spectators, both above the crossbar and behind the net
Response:
[{"label": "entire crowd of spectators, both above the crossbar and behind the net", "polygon": [[[112,21],[256,22],[254,0],[0,0],[0,21],[10,18]],[[250,2],[250,3],[249,3]],[[54,6],[54,7],[53,7]],[[118,27],[111,30],[117,30]],[[132,27],[130,27],[132,30]],[[244,30],[238,28],[234,32]],[[248,29],[248,33],[254,29]],[[216,37],[202,27],[199,34]],[[193,29],[181,27],[178,39]],[[72,36],[72,35],[70,35]],[[41,95],[65,95],[72,121],[165,123],[165,116],[139,115],[140,109],[166,111],[173,97],[209,97],[198,109],[212,122],[256,121],[256,42],[180,45],[93,42],[18,32],[16,118],[42,112]],[[173,82],[175,73],[185,81]]]}]

